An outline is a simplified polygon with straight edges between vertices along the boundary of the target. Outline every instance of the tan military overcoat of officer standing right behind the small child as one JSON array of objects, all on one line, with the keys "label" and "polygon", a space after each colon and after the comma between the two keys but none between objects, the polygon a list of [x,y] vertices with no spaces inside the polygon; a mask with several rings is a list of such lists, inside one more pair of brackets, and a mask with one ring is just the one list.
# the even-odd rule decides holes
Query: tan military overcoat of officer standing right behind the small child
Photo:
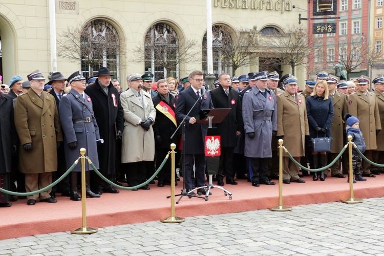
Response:
[{"label": "tan military overcoat of officer standing right behind the small child", "polygon": [[380,115],[375,94],[367,93],[368,98],[360,91],[349,95],[348,111],[360,121],[359,127],[367,150],[375,150],[377,148],[376,130],[381,130]]}]

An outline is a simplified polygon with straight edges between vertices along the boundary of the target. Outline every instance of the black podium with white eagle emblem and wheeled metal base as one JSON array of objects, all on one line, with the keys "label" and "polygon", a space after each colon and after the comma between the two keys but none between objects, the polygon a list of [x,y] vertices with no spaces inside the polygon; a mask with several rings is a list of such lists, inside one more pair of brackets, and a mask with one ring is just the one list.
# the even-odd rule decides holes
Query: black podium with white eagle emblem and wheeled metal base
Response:
[{"label": "black podium with white eagle emblem and wheeled metal base", "polygon": [[[207,141],[207,139],[209,139],[211,137],[215,137],[216,135],[218,135],[217,128],[212,127],[212,123],[221,123],[224,120],[224,118],[229,114],[230,111],[231,111],[231,109],[202,109],[200,111],[197,123],[207,123],[208,124],[208,132],[207,132],[207,136],[205,137],[204,141]],[[213,138],[212,138],[212,140],[213,140]],[[205,147],[207,147],[206,143],[205,143]],[[221,144],[220,144],[220,147],[221,147]],[[217,169],[219,166],[220,153],[215,154],[215,156],[211,156],[211,154],[208,154],[208,155],[205,154],[205,157],[206,157],[207,172],[208,172],[208,177],[209,177],[208,178],[209,184],[205,185],[205,186],[194,188],[190,192],[204,188],[204,189],[206,189],[204,200],[208,201],[208,196],[209,196],[210,190],[213,188],[219,188],[219,189],[222,189],[224,191],[224,196],[229,195],[229,199],[232,199],[232,193],[230,193],[228,190],[226,190],[225,188],[223,188],[221,186],[214,185],[212,182],[212,175],[217,174]],[[201,192],[198,192],[198,194],[199,194],[199,196],[202,195]]]}]

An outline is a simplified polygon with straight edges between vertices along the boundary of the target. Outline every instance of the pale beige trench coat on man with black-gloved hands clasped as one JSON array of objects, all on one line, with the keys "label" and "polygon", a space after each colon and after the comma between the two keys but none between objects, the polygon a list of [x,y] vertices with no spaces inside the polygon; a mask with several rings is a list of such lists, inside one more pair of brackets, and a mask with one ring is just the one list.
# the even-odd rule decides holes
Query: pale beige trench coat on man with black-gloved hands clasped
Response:
[{"label": "pale beige trench coat on man with black-gloved hands clasped", "polygon": [[[136,91],[130,89],[120,95],[121,106],[124,110],[124,132],[121,146],[121,162],[134,163],[140,161],[153,161],[155,158],[155,137],[150,130],[145,131],[139,120],[152,118],[155,121],[156,109],[154,108],[151,95],[141,91],[144,106],[134,94]],[[153,124],[153,123],[152,123]]]}]

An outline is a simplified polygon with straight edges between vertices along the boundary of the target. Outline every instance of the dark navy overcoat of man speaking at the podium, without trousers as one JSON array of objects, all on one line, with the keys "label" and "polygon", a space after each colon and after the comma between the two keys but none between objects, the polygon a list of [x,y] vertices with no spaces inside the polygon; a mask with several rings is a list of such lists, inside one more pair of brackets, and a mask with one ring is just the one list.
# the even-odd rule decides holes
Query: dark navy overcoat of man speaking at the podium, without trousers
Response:
[{"label": "dark navy overcoat of man speaking at the podium, without trousers", "polygon": [[[197,100],[197,95],[193,90],[193,87],[190,86],[187,89],[179,93],[176,103],[176,118],[180,123],[188,111],[192,109],[192,106]],[[193,110],[185,119],[185,153],[186,154],[205,154],[204,152],[204,139],[207,135],[208,124],[194,123],[190,124],[189,119],[196,117],[201,109],[213,109],[214,105],[209,92],[205,91],[204,97],[201,99],[201,102],[198,102]]]}]

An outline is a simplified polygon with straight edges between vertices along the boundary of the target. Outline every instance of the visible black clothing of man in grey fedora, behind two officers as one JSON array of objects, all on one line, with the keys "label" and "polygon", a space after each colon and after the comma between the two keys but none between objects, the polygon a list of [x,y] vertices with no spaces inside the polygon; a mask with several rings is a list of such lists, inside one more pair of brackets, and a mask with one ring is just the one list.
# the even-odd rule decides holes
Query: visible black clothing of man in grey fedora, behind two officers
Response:
[{"label": "visible black clothing of man in grey fedora, behind two officers", "polygon": [[[53,97],[55,98],[57,109],[59,109],[60,100],[57,97],[55,90],[52,89],[49,93],[52,94]],[[62,92],[62,95],[63,94],[64,93]],[[63,134],[63,137],[64,137],[64,134]],[[57,172],[52,173],[52,182],[55,182],[58,178],[60,178],[63,174],[65,174],[65,172],[67,172],[64,146],[65,145],[61,145],[59,148],[57,148]],[[69,175],[67,175],[67,177],[65,177],[62,181],[60,181],[56,186],[52,187],[52,192],[59,191],[63,193],[68,190],[69,190]]]}]

